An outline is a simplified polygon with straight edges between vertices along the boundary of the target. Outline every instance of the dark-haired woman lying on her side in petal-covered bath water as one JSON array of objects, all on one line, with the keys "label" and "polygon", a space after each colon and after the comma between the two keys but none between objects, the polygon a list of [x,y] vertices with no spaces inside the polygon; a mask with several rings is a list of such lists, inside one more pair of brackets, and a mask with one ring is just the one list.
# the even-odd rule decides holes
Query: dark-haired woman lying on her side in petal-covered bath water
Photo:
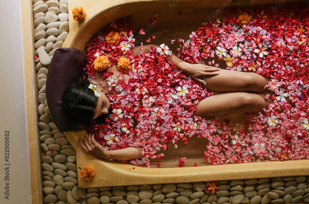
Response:
[{"label": "dark-haired woman lying on her side in petal-covered bath water", "polygon": [[[144,45],[143,47],[138,46],[132,48],[131,52],[133,56],[137,56],[141,51],[142,53],[149,53],[152,48],[160,47],[156,45]],[[269,92],[268,89],[264,88],[268,84],[269,80],[259,74],[221,70],[220,68],[201,64],[189,64],[176,57],[174,54],[168,56],[167,59],[171,60],[171,62],[173,62],[178,69],[188,74],[196,82],[201,83],[204,88],[216,92],[222,92],[222,94],[213,95],[200,100],[195,106],[196,112],[194,113],[194,116],[214,118],[218,115],[223,116],[231,113],[256,113],[261,111],[263,108],[267,108],[268,104],[272,102],[271,99],[265,99],[264,94],[260,94],[263,92]],[[119,75],[116,75],[116,73],[118,73],[116,64],[108,67],[106,72],[109,71],[112,71],[113,76],[115,76],[118,81]],[[123,75],[124,81],[129,78],[129,75]],[[88,87],[90,83],[98,86],[98,97],[93,97],[94,94],[91,89],[85,89],[85,87]],[[91,78],[89,82],[82,82],[81,86],[79,86],[80,88],[74,88],[76,90],[86,90],[88,91],[88,94],[92,94],[92,99],[89,99],[89,101],[83,100],[84,98],[88,98],[87,96],[81,96],[82,100],[80,101],[80,107],[82,107],[85,112],[89,111],[88,114],[85,113],[80,115],[79,113],[81,111],[77,111],[77,109],[68,105],[71,100],[80,95],[80,93],[76,91],[77,95],[67,97],[67,95],[72,94],[72,90],[70,90],[70,88],[66,91],[63,97],[62,103],[64,108],[71,111],[71,115],[74,117],[80,117],[83,121],[90,121],[91,119],[96,119],[101,115],[107,115],[109,113],[111,103],[105,95],[113,94],[115,92],[117,93],[117,90],[115,90],[116,86],[109,88],[109,85],[110,84],[108,84],[108,81],[102,77],[102,73],[97,72],[95,78]],[[89,105],[86,105],[89,103],[92,104],[91,108],[89,108]],[[227,104],[229,104],[228,107]],[[223,115],[222,109],[225,109]],[[81,147],[87,153],[103,159],[130,160],[141,158],[140,147],[126,147],[123,149],[108,151],[95,142],[94,135],[85,135],[84,141],[80,138],[78,138],[78,140]]]}]

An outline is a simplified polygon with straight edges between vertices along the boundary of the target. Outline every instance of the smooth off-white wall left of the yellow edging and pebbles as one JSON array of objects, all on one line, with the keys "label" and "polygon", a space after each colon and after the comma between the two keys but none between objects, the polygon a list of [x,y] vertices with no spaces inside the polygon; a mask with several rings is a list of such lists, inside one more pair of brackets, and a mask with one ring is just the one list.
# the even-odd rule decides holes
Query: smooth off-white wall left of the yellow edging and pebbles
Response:
[{"label": "smooth off-white wall left of the yellow edging and pebbles", "polygon": [[[31,203],[19,0],[0,0],[0,93],[0,203]],[[5,131],[9,131],[8,162],[5,161]],[[9,167],[8,181],[5,181],[6,167]],[[6,183],[9,200],[4,198]]]}]

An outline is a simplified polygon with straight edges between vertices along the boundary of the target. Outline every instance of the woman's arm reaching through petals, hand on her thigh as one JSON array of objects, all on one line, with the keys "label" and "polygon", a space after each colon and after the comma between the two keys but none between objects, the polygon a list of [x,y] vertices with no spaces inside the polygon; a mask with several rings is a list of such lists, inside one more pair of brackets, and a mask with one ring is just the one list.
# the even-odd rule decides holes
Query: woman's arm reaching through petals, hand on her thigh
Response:
[{"label": "woman's arm reaching through petals, hand on her thigh", "polygon": [[[154,49],[159,48],[158,45],[144,45],[142,47],[136,46],[131,49],[131,52],[133,56],[137,56],[137,53],[140,53],[141,50],[143,53],[149,53],[151,47],[153,47]],[[178,69],[188,74],[193,80],[204,85],[206,85],[206,82],[199,77],[218,75],[219,73],[216,71],[220,70],[220,68],[213,66],[190,64],[184,62],[182,59],[180,59],[174,54],[172,54],[171,56],[167,56],[167,59],[171,60],[178,67]]]}]

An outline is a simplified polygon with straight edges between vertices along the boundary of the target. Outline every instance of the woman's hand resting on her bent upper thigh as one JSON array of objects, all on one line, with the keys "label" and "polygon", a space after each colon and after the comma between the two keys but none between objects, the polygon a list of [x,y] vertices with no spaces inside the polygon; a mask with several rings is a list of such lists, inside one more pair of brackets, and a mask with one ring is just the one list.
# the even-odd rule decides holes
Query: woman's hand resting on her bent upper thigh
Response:
[{"label": "woman's hand resting on her bent upper thigh", "polygon": [[179,66],[181,66],[181,70],[188,74],[193,80],[196,82],[199,82],[201,84],[206,85],[206,82],[199,77],[204,76],[215,76],[219,74],[220,68],[214,67],[214,66],[207,66],[207,65],[201,65],[201,64],[189,64],[187,62],[181,62],[179,63]]}]

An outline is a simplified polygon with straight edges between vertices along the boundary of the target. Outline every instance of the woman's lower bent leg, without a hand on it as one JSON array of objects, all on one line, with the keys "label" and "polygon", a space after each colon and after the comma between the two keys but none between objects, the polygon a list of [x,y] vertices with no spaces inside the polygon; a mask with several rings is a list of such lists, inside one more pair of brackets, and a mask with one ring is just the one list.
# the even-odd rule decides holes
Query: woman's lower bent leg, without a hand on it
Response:
[{"label": "woman's lower bent leg, without a hand on it", "polygon": [[230,92],[201,100],[194,115],[199,117],[222,117],[231,113],[256,113],[272,102],[265,95],[248,92]]}]

